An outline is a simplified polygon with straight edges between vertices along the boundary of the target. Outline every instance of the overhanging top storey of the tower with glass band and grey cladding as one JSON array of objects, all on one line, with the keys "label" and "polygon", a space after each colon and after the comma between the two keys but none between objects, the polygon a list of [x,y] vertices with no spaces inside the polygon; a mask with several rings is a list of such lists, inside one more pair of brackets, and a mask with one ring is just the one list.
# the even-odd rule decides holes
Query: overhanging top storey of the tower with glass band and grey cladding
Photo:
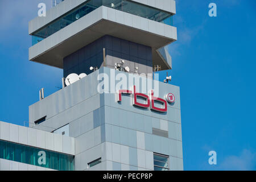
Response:
[{"label": "overhanging top storey of the tower with glass band and grey cladding", "polygon": [[34,36],[34,46],[29,49],[31,61],[63,68],[64,57],[104,35],[111,35],[151,47],[152,64],[171,69],[170,55],[158,49],[177,39],[176,28],[171,26],[174,1],[168,1],[165,10],[156,9],[160,7],[156,2],[148,6],[147,1],[143,4],[126,0],[79,1],[78,6],[72,1],[75,8],[71,9],[69,1],[47,11],[48,16],[30,22],[29,33]]}]

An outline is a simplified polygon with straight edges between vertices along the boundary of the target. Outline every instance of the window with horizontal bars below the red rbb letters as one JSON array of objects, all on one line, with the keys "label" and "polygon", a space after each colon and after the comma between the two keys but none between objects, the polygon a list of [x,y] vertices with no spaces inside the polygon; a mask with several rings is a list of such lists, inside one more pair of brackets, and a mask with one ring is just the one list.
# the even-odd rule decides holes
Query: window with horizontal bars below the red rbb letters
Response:
[{"label": "window with horizontal bars below the red rbb letters", "polygon": [[154,153],[154,170],[168,171],[169,169],[169,156]]}]

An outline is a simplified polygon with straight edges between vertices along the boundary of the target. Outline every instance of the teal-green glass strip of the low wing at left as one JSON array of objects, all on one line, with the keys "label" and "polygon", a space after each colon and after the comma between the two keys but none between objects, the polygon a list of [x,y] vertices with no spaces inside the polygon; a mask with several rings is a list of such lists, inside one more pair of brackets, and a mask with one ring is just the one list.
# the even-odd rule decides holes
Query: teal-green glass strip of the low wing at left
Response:
[{"label": "teal-green glass strip of the low wing at left", "polygon": [[60,171],[74,169],[74,156],[0,140],[0,158]]}]

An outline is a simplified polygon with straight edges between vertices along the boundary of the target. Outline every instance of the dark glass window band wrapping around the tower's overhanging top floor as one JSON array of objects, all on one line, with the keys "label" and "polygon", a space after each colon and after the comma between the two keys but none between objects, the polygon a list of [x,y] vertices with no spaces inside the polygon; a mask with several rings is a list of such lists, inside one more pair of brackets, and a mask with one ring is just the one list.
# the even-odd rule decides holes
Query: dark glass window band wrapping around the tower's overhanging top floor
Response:
[{"label": "dark glass window band wrapping around the tower's overhanging top floor", "polygon": [[42,39],[47,38],[48,36],[75,22],[82,16],[89,14],[100,6],[111,7],[116,10],[151,19],[156,22],[162,22],[171,26],[173,24],[171,13],[154,9],[152,7],[144,6],[127,0],[90,0],[32,34],[34,36],[34,38],[32,38],[32,46],[40,42]]}]

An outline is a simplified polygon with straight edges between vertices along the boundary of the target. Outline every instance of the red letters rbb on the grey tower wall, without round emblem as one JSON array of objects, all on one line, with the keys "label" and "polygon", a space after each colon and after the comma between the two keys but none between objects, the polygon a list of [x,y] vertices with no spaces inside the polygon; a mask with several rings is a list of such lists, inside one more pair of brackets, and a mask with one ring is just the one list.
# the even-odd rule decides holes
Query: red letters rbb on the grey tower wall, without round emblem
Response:
[{"label": "red letters rbb on the grey tower wall, without round emblem", "polygon": [[[133,94],[133,105],[138,106],[138,107],[143,107],[143,108],[148,108],[150,107],[151,110],[155,110],[158,112],[166,112],[167,111],[167,102],[163,100],[162,98],[159,97],[154,97],[154,91],[150,91],[150,96],[147,96],[146,94],[143,93],[138,93],[136,92],[136,86],[133,86],[132,90],[118,90],[117,92],[117,102],[122,101],[122,94]],[[137,98],[141,97],[143,98],[146,103],[142,104],[141,102],[138,102]],[[162,104],[162,108],[155,106],[155,102],[159,102]]]}]

